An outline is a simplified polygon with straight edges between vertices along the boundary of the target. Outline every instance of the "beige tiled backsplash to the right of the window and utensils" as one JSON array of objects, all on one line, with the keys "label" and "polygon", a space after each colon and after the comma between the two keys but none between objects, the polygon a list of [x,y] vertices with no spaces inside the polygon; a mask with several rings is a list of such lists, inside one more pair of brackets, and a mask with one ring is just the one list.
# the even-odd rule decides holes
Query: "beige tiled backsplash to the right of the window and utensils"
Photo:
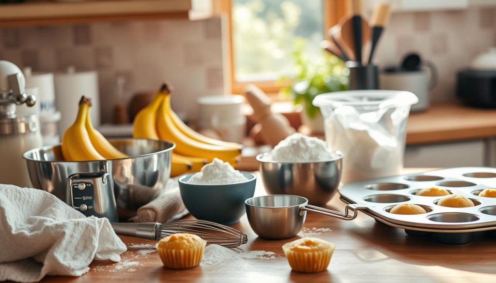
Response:
[{"label": "beige tiled backsplash to the right of the window and utensils", "polygon": [[478,54],[496,46],[496,8],[456,11],[398,12],[375,54],[381,66],[397,65],[405,54],[417,52],[437,67],[432,101],[456,98],[456,73]]}]

